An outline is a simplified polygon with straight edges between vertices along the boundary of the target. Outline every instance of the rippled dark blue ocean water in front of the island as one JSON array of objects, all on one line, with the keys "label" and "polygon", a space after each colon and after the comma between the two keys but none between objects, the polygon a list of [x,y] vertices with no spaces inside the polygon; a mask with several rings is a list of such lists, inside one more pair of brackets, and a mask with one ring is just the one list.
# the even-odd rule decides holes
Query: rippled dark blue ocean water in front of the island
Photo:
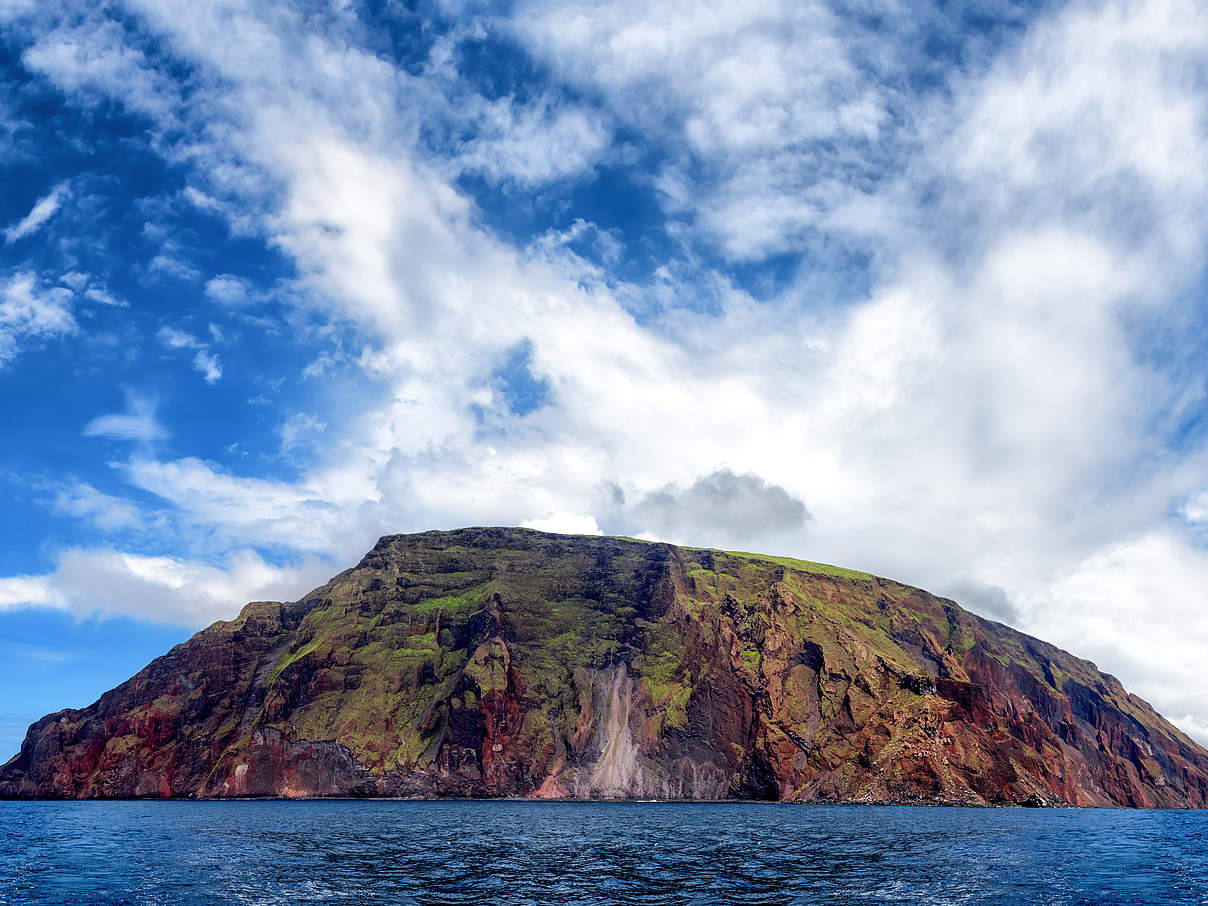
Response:
[{"label": "rippled dark blue ocean water in front of the island", "polygon": [[1208,813],[0,802],[0,904],[1208,904]]}]

